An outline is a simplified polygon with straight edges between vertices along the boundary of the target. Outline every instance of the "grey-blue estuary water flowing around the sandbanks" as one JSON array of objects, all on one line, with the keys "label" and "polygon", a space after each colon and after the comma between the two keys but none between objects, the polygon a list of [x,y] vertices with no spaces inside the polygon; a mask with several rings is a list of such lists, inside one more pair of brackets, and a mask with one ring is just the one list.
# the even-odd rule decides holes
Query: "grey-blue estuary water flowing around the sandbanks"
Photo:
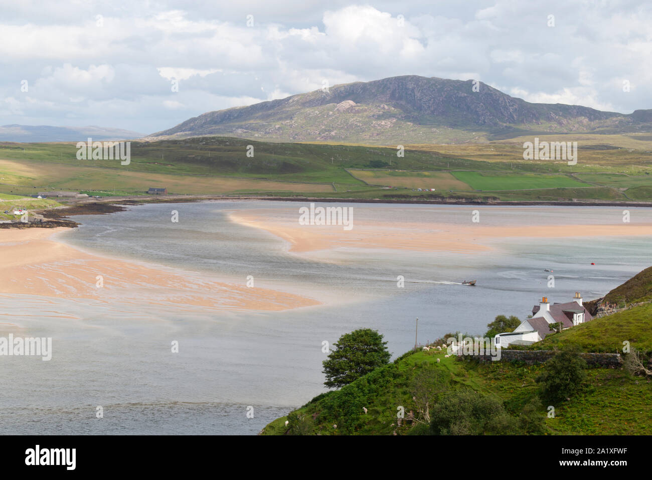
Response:
[{"label": "grey-blue estuary water flowing around the sandbanks", "polygon": [[[0,295],[0,335],[53,337],[53,357],[0,357],[0,421],[8,434],[256,434],[325,391],[322,342],[361,327],[385,335],[393,357],[415,343],[462,331],[483,334],[497,314],[526,318],[542,295],[569,301],[604,295],[651,262],[650,237],[595,237],[591,224],[621,222],[617,207],[352,206],[355,218],[418,224],[583,224],[579,236],[493,239],[475,253],[336,248],[295,254],[275,235],[237,224],[231,211],[278,211],[298,202],[224,201],[130,207],[75,217],[57,235],[87,252],[192,275],[299,293],[322,305],[280,312],[207,311],[147,303]],[[329,204],[332,205],[332,204]],[[171,222],[171,211],[179,222]],[[630,209],[631,222],[652,211]],[[354,218],[354,224],[355,224]],[[492,223],[493,222],[493,223]],[[623,228],[626,228],[623,226]],[[355,232],[355,228],[353,229]],[[472,239],[471,239],[472,240]],[[409,237],[406,238],[409,243]],[[595,263],[595,265],[591,265]],[[554,270],[548,287],[544,269]],[[398,288],[397,277],[405,278]],[[475,279],[467,287],[462,280]],[[18,331],[18,333],[17,333]],[[170,353],[170,340],[179,353]],[[96,413],[101,407],[102,418]],[[249,413],[249,415],[248,415]]]}]

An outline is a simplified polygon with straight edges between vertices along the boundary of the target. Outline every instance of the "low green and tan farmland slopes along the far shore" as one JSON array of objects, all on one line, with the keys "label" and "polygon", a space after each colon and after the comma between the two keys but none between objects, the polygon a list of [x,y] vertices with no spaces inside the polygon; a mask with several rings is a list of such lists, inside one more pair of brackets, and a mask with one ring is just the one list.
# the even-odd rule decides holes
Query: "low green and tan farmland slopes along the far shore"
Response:
[{"label": "low green and tan farmland slopes along the far shore", "polygon": [[[0,188],[19,194],[33,187],[97,194],[167,187],[181,194],[383,198],[382,186],[393,185],[408,196],[421,196],[416,188],[437,188],[458,196],[483,190],[501,200],[652,200],[652,142],[624,135],[586,137],[575,166],[523,160],[522,143],[513,140],[407,145],[399,158],[395,147],[200,137],[132,142],[128,166],[78,160],[74,143],[0,143]],[[246,156],[248,145],[254,147],[253,158]]]}]

